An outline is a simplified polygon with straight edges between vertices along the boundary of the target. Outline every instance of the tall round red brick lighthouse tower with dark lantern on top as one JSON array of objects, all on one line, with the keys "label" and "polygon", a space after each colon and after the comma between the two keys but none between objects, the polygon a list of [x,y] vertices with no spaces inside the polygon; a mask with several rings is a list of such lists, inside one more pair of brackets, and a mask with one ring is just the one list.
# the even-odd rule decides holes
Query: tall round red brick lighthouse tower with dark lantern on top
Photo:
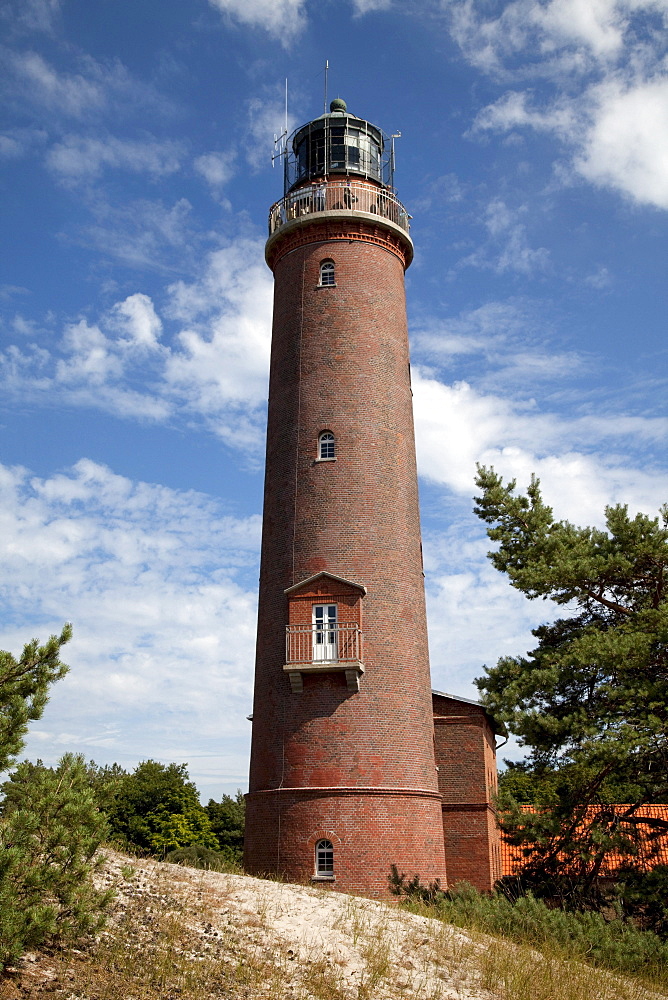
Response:
[{"label": "tall round red brick lighthouse tower with dark lantern on top", "polygon": [[247,870],[387,896],[445,880],[404,294],[383,133],[288,142],[275,277]]}]

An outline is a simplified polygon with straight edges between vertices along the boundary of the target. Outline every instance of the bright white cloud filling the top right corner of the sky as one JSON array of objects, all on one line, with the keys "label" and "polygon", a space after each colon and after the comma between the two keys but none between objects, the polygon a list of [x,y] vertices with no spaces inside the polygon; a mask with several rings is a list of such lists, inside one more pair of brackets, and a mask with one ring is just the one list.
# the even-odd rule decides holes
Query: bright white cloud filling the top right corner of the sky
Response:
[{"label": "bright white cloud filling the top right corner of the sky", "polygon": [[473,132],[554,134],[573,172],[668,208],[665,0],[517,0],[494,21],[470,3],[454,10],[472,62],[520,79],[551,73],[558,88],[551,97],[508,91],[478,114]]}]

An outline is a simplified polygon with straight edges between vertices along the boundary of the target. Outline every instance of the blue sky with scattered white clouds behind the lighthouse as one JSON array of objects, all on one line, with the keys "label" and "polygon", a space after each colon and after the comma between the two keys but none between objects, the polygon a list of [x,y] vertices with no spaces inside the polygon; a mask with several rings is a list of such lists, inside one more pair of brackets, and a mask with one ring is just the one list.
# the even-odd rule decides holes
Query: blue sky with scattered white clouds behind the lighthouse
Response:
[{"label": "blue sky with scattered white clouds behind the lighthouse", "polygon": [[0,646],[74,623],[28,753],[245,787],[274,133],[401,131],[432,676],[549,605],[485,559],[476,461],[557,516],[665,485],[667,0],[6,0]]}]

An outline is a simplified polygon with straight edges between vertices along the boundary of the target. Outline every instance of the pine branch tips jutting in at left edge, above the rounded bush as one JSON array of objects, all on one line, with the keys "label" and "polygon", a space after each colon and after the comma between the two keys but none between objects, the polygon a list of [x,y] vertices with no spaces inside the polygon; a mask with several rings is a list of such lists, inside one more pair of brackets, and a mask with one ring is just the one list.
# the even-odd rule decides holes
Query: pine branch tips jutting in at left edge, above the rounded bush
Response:
[{"label": "pine branch tips jutting in at left edge, above the rounded bush", "polygon": [[72,626],[65,625],[44,646],[33,639],[23,647],[19,660],[0,650],[0,772],[11,767],[21,753],[28,723],[41,718],[49,685],[67,673],[60,650],[71,636]]}]

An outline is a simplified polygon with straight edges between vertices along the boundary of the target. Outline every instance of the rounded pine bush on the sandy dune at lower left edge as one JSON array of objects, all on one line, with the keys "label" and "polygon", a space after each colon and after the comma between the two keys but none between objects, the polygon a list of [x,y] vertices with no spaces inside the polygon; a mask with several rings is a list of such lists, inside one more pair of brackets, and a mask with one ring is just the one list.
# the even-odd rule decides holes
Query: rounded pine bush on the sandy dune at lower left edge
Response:
[{"label": "rounded pine bush on the sandy dune at lower left edge", "polygon": [[107,824],[82,757],[24,761],[2,786],[0,968],[26,948],[95,931],[109,894],[90,875]]}]

